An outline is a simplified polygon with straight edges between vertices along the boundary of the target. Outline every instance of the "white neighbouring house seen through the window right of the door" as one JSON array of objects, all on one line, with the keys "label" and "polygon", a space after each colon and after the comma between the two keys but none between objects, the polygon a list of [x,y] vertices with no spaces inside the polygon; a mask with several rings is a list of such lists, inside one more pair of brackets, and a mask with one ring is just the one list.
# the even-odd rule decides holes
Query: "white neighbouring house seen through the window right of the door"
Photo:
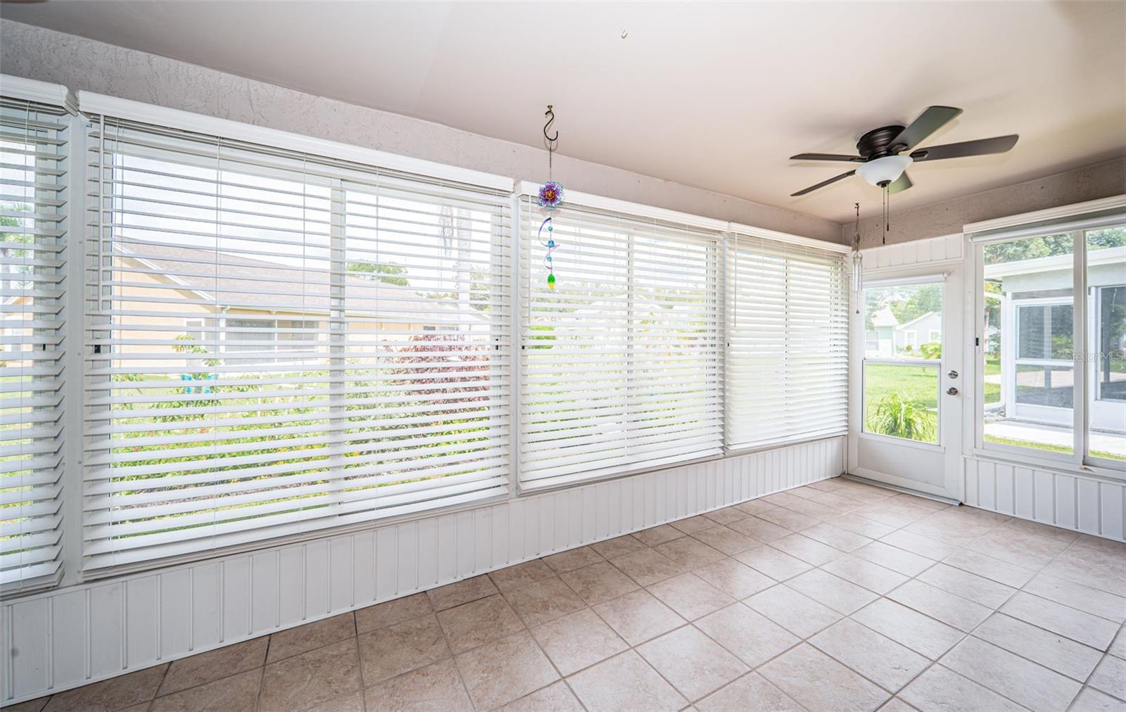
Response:
[{"label": "white neighbouring house seen through the window right of the door", "polygon": [[[1006,419],[1072,425],[1074,361],[1089,355],[1090,426],[1126,431],[1126,247],[1087,255],[1091,344],[1074,348],[1072,256],[986,265],[1000,286],[1001,401]],[[1082,390],[1078,390],[1081,395]]]}]

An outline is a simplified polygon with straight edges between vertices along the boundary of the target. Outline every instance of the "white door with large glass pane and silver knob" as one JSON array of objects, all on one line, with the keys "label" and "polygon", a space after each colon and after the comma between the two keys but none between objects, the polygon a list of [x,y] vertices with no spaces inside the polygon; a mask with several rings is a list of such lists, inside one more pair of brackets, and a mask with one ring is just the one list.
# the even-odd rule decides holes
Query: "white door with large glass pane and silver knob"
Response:
[{"label": "white door with large glass pane and silver knob", "polygon": [[[882,270],[854,297],[849,472],[962,501],[962,268],[942,269]],[[865,338],[888,328],[891,353]]]}]

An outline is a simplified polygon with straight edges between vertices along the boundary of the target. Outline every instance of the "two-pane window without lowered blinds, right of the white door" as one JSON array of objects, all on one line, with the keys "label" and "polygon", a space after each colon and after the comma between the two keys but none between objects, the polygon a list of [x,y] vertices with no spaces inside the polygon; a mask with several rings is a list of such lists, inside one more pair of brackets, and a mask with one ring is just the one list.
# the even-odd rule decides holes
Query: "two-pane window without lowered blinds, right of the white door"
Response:
[{"label": "two-pane window without lowered blinds, right of the white door", "polygon": [[[982,275],[982,447],[1121,470],[1121,223],[1110,211],[1060,220],[1040,234],[1007,229],[972,235]],[[1075,408],[1083,399],[1085,417]]]}]

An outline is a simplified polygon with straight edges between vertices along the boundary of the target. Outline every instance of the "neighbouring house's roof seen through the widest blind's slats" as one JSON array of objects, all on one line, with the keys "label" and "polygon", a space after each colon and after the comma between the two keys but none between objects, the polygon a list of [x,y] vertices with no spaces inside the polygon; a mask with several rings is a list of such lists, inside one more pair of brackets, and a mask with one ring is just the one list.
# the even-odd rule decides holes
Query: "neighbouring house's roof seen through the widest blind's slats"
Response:
[{"label": "neighbouring house's roof seen through the widest blind's slats", "polygon": [[[333,285],[328,269],[142,241],[115,241],[114,255],[143,264],[143,268],[214,301],[220,309],[328,312],[331,305]],[[458,315],[488,320],[463,301],[427,296],[410,286],[386,284],[374,277],[347,274],[343,287],[349,313],[370,312],[381,319],[402,314],[402,321],[411,322],[452,320]]]}]

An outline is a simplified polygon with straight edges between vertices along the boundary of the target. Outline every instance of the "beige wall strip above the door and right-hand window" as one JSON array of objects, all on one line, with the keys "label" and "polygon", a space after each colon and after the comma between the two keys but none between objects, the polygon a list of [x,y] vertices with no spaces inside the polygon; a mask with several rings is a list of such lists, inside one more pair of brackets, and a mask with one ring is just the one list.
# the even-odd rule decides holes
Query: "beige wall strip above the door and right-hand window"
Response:
[{"label": "beige wall strip above the door and right-hand window", "polygon": [[[917,185],[913,189],[926,188]],[[1126,158],[1117,158],[902,213],[895,212],[895,196],[892,196],[887,243],[955,234],[962,232],[962,225],[972,222],[1096,201],[1124,193],[1126,193]],[[879,193],[873,188],[872,206],[878,207],[878,205]],[[883,231],[882,219],[861,220],[860,247],[878,246]],[[842,242],[851,244],[854,234],[852,223],[841,226]]]}]

